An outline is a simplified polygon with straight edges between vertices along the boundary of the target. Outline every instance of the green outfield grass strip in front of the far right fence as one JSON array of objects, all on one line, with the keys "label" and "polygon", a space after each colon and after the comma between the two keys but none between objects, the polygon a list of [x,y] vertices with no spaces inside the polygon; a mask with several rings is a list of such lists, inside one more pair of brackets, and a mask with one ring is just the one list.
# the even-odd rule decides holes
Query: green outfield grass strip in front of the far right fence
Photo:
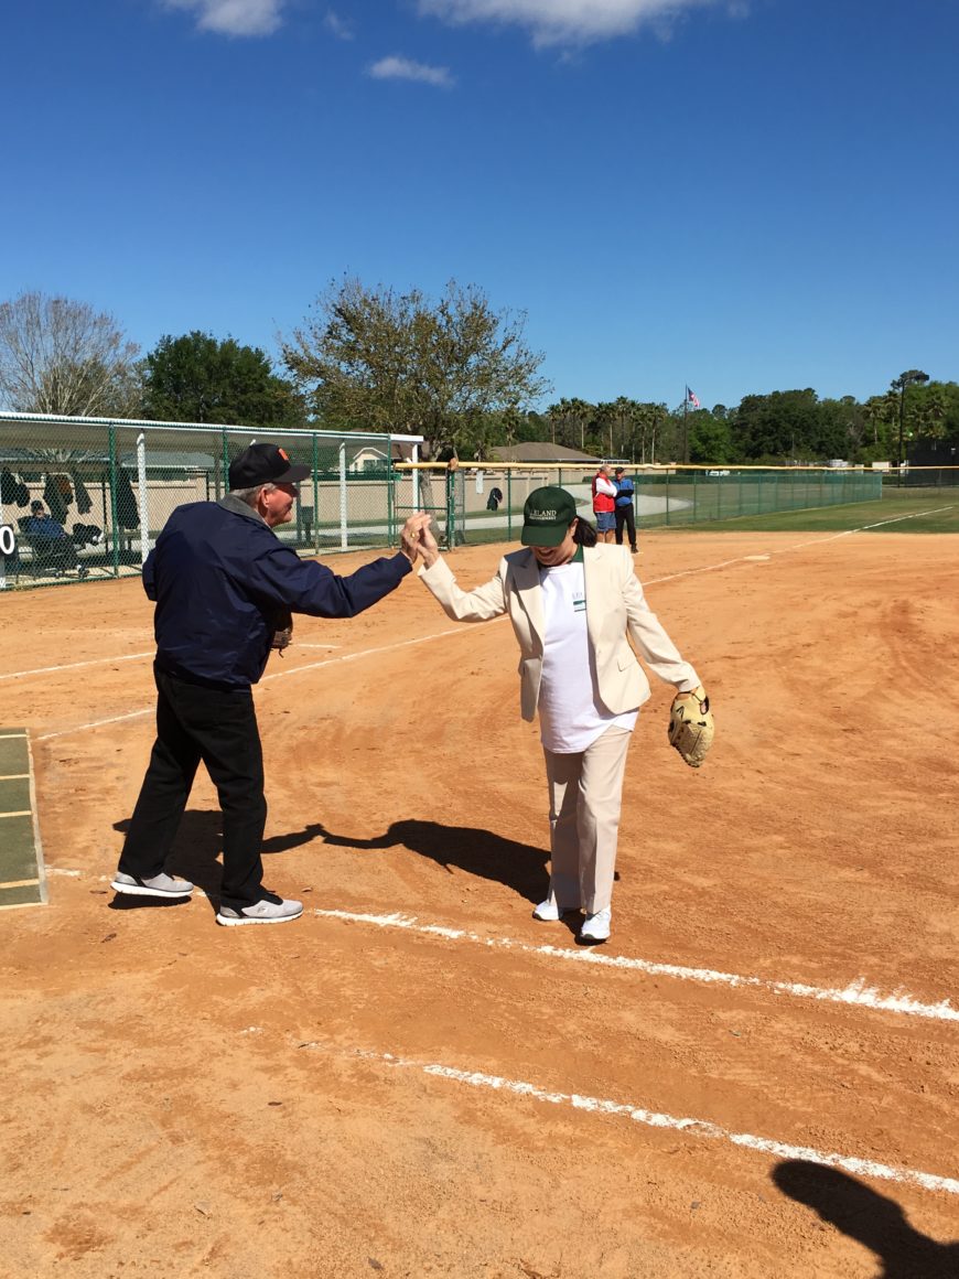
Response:
[{"label": "green outfield grass strip in front of the far right fence", "polygon": [[[903,518],[909,517],[909,518]],[[895,523],[882,523],[895,521]],[[815,506],[808,510],[770,512],[765,515],[739,515],[708,523],[682,526],[685,532],[735,533],[762,532],[841,532],[877,524],[877,533],[959,533],[959,489],[917,492],[914,489],[885,489],[880,501],[854,501],[841,506]],[[643,528],[662,528],[659,521],[643,521]],[[680,526],[670,526],[680,527]]]}]

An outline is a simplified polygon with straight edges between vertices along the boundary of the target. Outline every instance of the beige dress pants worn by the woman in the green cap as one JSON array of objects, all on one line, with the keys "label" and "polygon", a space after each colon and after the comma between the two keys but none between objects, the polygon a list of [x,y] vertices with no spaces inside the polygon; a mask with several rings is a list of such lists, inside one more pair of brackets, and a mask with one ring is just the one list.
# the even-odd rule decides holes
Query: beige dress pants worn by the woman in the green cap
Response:
[{"label": "beige dress pants worn by the woman in the green cap", "polygon": [[612,898],[623,775],[633,734],[606,732],[578,755],[543,748],[550,787],[550,897],[561,911],[604,911]]}]

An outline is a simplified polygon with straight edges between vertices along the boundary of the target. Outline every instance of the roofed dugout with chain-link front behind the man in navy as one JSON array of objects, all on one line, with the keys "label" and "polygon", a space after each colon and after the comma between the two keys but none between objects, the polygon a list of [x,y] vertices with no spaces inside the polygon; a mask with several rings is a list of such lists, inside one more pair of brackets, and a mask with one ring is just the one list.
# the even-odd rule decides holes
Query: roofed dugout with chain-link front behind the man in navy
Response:
[{"label": "roofed dugout with chain-link front behind the man in navy", "polygon": [[394,454],[418,436],[0,413],[0,588],[139,573],[174,508],[221,498],[263,436],[311,468],[284,542],[395,544]]}]

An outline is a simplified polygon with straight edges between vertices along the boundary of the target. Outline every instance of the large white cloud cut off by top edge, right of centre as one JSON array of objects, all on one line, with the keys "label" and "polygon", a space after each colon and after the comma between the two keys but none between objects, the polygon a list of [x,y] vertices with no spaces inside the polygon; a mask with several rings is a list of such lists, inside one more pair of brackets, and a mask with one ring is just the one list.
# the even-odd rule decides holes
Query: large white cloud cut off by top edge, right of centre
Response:
[{"label": "large white cloud cut off by top edge, right of centre", "polygon": [[526,27],[537,45],[588,43],[627,36],[642,26],[662,32],[687,9],[719,0],[419,0],[419,12],[460,24]]}]

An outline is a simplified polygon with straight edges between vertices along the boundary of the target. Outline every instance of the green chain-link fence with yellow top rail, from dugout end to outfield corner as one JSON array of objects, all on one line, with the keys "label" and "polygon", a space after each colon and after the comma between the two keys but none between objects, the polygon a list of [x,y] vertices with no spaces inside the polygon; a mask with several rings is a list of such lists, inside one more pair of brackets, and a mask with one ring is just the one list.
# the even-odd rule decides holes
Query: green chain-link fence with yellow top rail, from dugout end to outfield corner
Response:
[{"label": "green chain-link fence with yellow top rail, from dugout end to outfield corner", "polygon": [[[542,485],[566,489],[575,498],[579,514],[595,521],[591,487],[595,467],[487,463],[450,471],[437,463],[421,463],[396,469],[400,475],[396,486],[399,517],[405,518],[416,509],[431,510],[439,526],[439,540],[450,547],[464,541],[517,540],[526,499]],[[662,467],[653,471],[627,467],[625,471],[635,486],[635,522],[641,528],[872,501],[882,496],[881,473],[854,468]],[[416,505],[417,485],[419,508]]]}]

